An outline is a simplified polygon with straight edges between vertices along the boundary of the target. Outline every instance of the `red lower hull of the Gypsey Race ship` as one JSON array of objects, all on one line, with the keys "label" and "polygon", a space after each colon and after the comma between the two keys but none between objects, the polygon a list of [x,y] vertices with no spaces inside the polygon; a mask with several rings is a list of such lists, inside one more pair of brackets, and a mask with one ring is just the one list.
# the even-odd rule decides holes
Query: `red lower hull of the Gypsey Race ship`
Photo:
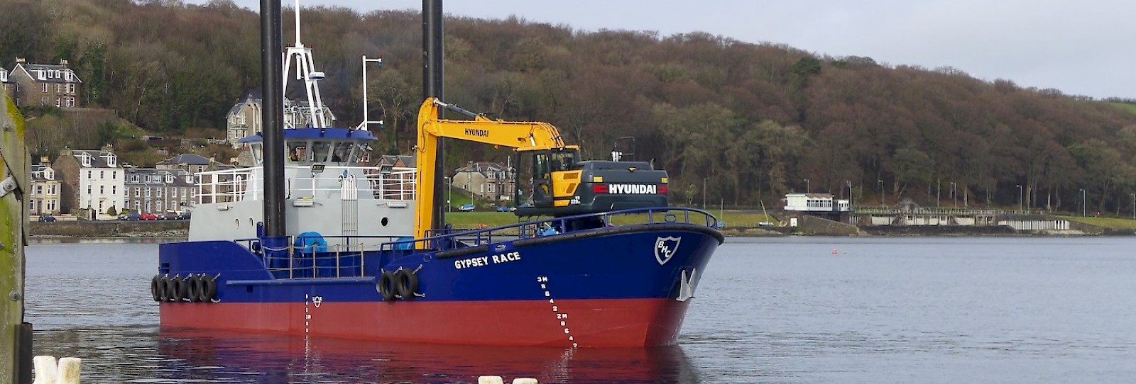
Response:
[{"label": "red lower hull of the Gypsey Race ship", "polygon": [[[478,345],[674,344],[690,301],[174,302],[162,327]],[[534,321],[538,319],[538,321]]]}]

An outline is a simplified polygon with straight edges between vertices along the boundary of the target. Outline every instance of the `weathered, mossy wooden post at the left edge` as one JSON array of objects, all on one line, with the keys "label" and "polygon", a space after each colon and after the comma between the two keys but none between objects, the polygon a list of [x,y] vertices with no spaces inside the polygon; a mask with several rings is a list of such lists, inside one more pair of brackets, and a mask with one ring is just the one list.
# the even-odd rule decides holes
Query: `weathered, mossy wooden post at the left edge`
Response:
[{"label": "weathered, mossy wooden post at the left edge", "polygon": [[0,92],[0,383],[32,382],[32,325],[24,323],[28,163],[24,118]]}]

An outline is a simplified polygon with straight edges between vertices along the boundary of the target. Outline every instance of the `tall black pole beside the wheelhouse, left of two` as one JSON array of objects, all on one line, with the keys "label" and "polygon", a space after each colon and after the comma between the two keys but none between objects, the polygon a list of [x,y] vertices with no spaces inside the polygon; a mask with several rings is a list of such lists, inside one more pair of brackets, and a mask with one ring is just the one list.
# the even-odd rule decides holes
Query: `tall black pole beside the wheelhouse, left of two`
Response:
[{"label": "tall black pole beside the wheelhouse, left of two", "polygon": [[[260,0],[260,84],[264,94],[265,246],[284,240],[284,69],[281,0]],[[275,239],[274,239],[275,238]],[[274,241],[268,241],[274,239]],[[270,244],[269,244],[270,242]]]}]

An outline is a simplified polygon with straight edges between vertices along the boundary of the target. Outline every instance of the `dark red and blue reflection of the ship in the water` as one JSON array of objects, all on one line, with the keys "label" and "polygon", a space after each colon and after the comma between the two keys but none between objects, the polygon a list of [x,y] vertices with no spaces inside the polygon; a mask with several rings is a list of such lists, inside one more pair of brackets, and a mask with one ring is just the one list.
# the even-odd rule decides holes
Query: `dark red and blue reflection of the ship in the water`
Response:
[{"label": "dark red and blue reflection of the ship in the water", "polygon": [[[158,351],[182,379],[244,383],[696,383],[677,345],[543,348],[398,343],[162,328]],[[190,373],[189,376],[185,373]]]}]

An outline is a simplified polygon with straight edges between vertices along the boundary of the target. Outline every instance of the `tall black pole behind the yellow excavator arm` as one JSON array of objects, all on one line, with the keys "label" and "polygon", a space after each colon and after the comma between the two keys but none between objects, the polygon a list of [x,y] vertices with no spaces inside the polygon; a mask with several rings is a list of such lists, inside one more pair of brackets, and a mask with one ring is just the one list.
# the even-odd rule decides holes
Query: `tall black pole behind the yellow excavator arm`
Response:
[{"label": "tall black pole behind the yellow excavator arm", "polygon": [[[442,99],[442,0],[423,0],[423,99]],[[441,113],[441,111],[438,111]],[[434,148],[434,220],[432,229],[445,225],[445,206],[440,204],[440,196],[445,196],[445,142],[437,139]],[[418,161],[424,161],[419,159]]]}]

